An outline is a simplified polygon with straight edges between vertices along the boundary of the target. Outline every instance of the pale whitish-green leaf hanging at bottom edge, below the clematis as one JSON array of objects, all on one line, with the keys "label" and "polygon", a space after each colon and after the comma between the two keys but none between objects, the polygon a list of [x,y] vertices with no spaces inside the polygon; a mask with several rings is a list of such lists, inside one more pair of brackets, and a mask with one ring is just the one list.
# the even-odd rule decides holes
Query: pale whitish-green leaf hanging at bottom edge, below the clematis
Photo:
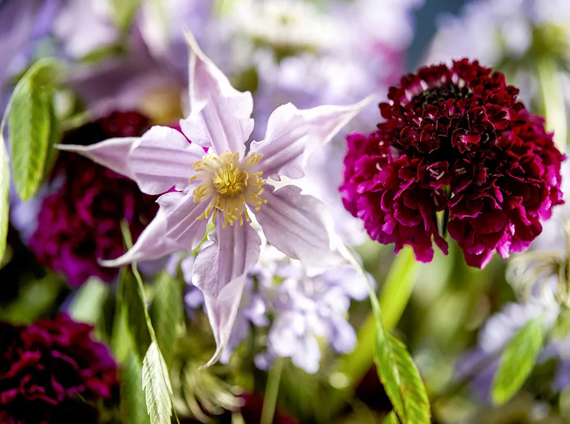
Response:
[{"label": "pale whitish-green leaf hanging at bottom edge, below the clematis", "polygon": [[150,423],[170,424],[172,386],[165,360],[154,342],[143,360],[143,391]]}]

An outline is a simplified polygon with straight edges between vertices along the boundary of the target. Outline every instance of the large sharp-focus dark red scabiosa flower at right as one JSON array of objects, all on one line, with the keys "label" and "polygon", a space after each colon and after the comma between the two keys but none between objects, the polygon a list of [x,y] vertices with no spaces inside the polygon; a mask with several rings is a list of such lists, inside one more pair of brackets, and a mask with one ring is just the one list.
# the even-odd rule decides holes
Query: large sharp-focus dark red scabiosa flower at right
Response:
[{"label": "large sharp-focus dark red scabiosa flower at right", "polygon": [[564,155],[517,94],[468,59],[404,76],[378,131],[348,136],[345,207],[372,239],[410,245],[424,262],[432,240],[447,253],[445,225],[470,266],[527,249],[563,203]]}]

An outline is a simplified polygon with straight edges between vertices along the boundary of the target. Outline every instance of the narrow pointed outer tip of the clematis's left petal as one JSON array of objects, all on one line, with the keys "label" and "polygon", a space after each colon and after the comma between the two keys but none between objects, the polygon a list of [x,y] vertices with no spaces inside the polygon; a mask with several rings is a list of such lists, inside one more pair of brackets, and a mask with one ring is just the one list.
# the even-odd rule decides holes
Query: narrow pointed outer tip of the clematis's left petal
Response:
[{"label": "narrow pointed outer tip of the clematis's left petal", "polygon": [[55,146],[61,151],[78,153],[114,172],[134,179],[134,173],[129,165],[129,152],[139,139],[139,137],[121,137],[101,141],[91,146],[75,144],[56,144]]}]

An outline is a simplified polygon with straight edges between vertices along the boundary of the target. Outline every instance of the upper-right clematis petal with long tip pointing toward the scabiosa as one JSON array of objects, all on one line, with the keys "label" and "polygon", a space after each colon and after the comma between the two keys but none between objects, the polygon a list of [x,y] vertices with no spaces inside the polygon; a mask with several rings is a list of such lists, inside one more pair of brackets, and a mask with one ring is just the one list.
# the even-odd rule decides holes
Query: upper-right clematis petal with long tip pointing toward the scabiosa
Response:
[{"label": "upper-right clematis petal with long tip pointing toward the scabiosa", "polygon": [[258,170],[267,177],[301,178],[307,158],[350,122],[371,98],[349,106],[319,106],[299,110],[291,103],[273,111],[263,141],[251,143],[251,151],[263,154]]}]

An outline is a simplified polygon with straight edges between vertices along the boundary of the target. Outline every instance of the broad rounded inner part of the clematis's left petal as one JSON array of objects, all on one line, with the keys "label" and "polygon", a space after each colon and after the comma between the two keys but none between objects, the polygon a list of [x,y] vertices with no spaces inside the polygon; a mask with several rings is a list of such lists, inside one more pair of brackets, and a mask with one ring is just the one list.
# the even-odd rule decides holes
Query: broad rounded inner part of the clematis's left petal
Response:
[{"label": "broad rounded inner part of the clematis's left petal", "polygon": [[130,166],[141,191],[161,194],[172,187],[188,186],[192,165],[206,152],[191,144],[179,131],[168,126],[153,126],[133,145]]}]

